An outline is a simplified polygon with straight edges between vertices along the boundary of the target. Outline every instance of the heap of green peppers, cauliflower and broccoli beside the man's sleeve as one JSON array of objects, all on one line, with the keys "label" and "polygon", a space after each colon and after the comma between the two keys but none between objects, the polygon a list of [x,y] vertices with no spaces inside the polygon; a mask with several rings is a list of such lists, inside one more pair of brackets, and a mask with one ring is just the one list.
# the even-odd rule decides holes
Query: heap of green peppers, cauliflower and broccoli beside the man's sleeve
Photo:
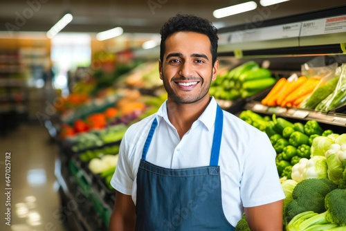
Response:
[{"label": "heap of green peppers, cauliflower and broccoli beside the man's sleeve", "polygon": [[277,153],[284,230],[345,230],[346,133],[322,129],[316,120],[293,123],[275,114],[270,120],[250,110],[239,118],[264,131]]}]

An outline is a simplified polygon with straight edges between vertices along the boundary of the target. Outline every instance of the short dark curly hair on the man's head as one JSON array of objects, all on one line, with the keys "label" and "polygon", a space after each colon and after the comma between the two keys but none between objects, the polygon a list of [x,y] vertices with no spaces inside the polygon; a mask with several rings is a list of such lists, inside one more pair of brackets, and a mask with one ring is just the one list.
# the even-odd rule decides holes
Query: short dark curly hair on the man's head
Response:
[{"label": "short dark curly hair on the man's head", "polygon": [[161,44],[160,44],[160,60],[163,63],[163,55],[165,54],[165,41],[168,36],[179,31],[195,32],[207,35],[210,40],[210,52],[212,53],[212,66],[217,59],[217,28],[207,19],[194,15],[177,14],[170,18],[161,28]]}]

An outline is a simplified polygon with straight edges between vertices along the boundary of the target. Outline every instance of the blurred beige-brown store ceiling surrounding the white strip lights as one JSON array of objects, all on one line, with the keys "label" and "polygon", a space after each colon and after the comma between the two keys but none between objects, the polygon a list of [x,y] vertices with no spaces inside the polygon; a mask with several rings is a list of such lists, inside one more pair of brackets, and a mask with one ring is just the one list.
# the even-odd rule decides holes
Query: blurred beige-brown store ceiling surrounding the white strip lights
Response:
[{"label": "blurred beige-brown store ceiling surrounding the white strip lights", "polygon": [[[215,19],[212,12],[244,1],[225,0],[1,0],[0,31],[48,31],[64,12],[71,12],[73,21],[64,32],[98,33],[117,26],[124,33],[159,33],[161,26],[177,12],[205,17],[217,27],[245,24],[249,21],[295,15],[321,8],[345,4],[345,0],[291,0],[270,10],[257,2],[257,9],[239,15]],[[269,10],[268,10],[269,9]],[[216,24],[217,23],[217,24]]]}]

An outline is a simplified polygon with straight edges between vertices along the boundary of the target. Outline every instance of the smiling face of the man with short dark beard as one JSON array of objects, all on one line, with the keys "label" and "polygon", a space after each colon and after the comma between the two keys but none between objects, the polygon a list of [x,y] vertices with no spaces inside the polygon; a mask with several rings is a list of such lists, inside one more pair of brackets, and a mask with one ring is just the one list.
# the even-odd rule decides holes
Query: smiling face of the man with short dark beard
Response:
[{"label": "smiling face of the man with short dark beard", "polygon": [[209,100],[209,87],[216,79],[219,63],[212,66],[208,36],[178,32],[167,37],[160,78],[168,98],[178,104]]}]

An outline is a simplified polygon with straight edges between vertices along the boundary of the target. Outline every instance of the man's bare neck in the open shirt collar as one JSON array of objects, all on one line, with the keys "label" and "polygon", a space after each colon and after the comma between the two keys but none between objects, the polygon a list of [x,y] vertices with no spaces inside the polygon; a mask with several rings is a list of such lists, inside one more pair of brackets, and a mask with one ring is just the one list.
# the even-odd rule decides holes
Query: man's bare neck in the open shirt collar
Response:
[{"label": "man's bare neck in the open shirt collar", "polygon": [[191,128],[192,123],[196,121],[203,111],[208,107],[211,98],[199,100],[192,104],[177,104],[172,99],[167,99],[167,113],[170,122],[178,131],[180,139]]}]

